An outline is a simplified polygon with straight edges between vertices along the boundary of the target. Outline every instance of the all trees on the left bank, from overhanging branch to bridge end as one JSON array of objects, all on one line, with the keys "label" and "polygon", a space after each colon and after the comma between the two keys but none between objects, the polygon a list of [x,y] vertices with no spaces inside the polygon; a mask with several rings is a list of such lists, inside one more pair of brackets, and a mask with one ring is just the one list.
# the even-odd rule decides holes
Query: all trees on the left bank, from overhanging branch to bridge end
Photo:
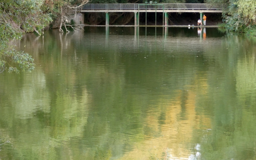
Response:
[{"label": "all trees on the left bank, from overhanging branch to bridge end", "polygon": [[[60,28],[70,23],[70,11],[87,0],[2,0],[0,2],[0,73],[7,69],[19,73],[20,69],[34,69],[33,59],[27,53],[11,45],[26,32],[37,32],[49,28],[50,23],[59,21]],[[73,10],[72,10],[73,11]],[[63,23],[64,22],[64,23]]]}]

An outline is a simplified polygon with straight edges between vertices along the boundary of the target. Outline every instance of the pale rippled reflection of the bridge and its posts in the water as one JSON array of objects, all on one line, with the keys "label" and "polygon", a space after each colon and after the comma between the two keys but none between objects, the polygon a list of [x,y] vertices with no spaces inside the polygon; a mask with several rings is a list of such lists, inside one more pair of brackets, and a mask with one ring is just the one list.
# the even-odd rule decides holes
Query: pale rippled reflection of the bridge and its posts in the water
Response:
[{"label": "pale rippled reflection of the bridge and its posts in the water", "polygon": [[[219,38],[204,38],[202,34],[206,30],[201,30],[198,37],[172,37],[168,36],[168,27],[163,27],[163,34],[156,34],[153,36],[139,35],[139,27],[134,27],[134,35],[117,35],[110,34],[109,28],[106,27],[104,34],[89,34],[88,41],[91,43],[84,44],[84,47],[98,48],[98,51],[104,52],[105,50],[119,50],[121,52],[139,53],[180,53],[187,52],[187,54],[195,54],[202,52],[212,52],[216,48],[221,48],[223,42]],[[197,29],[195,30],[197,32]],[[140,32],[141,34],[141,32]],[[206,33],[205,33],[206,34]]]}]

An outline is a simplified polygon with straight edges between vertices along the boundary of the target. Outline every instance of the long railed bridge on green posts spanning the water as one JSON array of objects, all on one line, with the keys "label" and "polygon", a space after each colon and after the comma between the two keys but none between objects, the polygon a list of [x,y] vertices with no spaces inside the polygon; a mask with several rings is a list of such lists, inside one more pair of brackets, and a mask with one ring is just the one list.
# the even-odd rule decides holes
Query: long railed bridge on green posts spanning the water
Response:
[{"label": "long railed bridge on green posts spanning the water", "polygon": [[109,12],[134,12],[134,26],[139,26],[140,12],[155,12],[155,18],[157,12],[162,12],[164,15],[163,26],[168,26],[168,12],[197,12],[200,13],[202,20],[203,13],[222,13],[227,7],[225,4],[155,4],[150,1],[147,4],[85,4],[81,7],[80,12],[105,12],[106,26],[109,26]]}]

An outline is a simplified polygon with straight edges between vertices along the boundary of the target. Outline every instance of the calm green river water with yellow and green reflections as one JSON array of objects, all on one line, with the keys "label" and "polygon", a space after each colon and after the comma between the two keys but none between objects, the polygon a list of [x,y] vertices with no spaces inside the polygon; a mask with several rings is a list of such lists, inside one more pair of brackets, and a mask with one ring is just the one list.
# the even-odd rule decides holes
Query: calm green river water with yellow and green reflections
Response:
[{"label": "calm green river water with yellow and green reflections", "polygon": [[2,160],[256,158],[254,37],[85,27],[16,46],[36,69],[0,74]]}]

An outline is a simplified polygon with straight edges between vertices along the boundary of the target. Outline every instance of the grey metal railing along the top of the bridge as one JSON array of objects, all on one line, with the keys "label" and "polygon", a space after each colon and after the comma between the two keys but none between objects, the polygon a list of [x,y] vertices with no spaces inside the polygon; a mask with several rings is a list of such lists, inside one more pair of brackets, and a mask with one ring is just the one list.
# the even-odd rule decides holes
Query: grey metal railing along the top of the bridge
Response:
[{"label": "grey metal railing along the top of the bridge", "polygon": [[82,10],[138,10],[139,9],[164,9],[165,10],[225,10],[225,4],[164,4],[164,5],[142,5],[140,4],[85,4]]}]

